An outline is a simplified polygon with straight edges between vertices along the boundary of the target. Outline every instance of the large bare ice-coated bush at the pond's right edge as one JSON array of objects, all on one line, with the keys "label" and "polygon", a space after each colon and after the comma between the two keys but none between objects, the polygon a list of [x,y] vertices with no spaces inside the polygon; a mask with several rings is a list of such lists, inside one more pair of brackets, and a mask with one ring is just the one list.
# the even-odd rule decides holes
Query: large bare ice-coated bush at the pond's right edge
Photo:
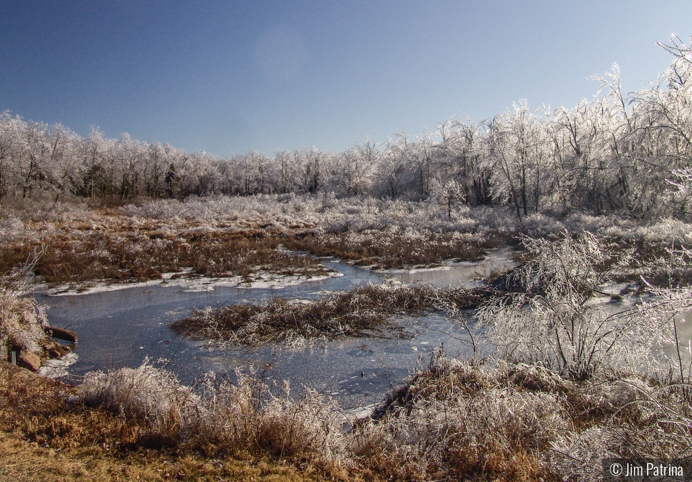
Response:
[{"label": "large bare ice-coated bush at the pond's right edge", "polygon": [[664,312],[612,313],[594,302],[599,288],[628,266],[630,254],[608,252],[586,232],[526,239],[525,248],[532,261],[519,277],[527,293],[498,297],[479,311],[499,356],[578,379],[613,367],[657,370],[674,329]]}]

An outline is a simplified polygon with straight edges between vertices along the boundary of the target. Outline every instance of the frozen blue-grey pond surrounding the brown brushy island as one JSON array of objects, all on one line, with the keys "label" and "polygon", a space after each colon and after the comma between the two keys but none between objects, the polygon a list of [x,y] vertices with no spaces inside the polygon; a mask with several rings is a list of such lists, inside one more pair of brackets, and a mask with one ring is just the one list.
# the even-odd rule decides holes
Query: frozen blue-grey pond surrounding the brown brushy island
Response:
[{"label": "frozen blue-grey pond surrounding the brown brushy island", "polygon": [[[389,271],[385,274],[325,260],[325,266],[343,273],[320,281],[308,281],[281,289],[217,286],[214,290],[190,291],[185,286],[136,286],[78,296],[36,295],[49,306],[53,326],[69,328],[80,335],[77,362],[69,367],[76,378],[98,369],[138,367],[145,357],[171,360],[168,367],[183,382],[201,373],[225,373],[250,365],[268,369],[268,376],[289,380],[292,393],[302,385],[334,396],[342,407],[362,407],[381,400],[383,394],[415,369],[419,357],[444,343],[450,355],[468,353],[464,333],[441,315],[397,320],[408,336],[393,331],[386,337],[345,338],[304,349],[283,346],[208,346],[176,335],[168,325],[190,315],[194,308],[258,302],[271,297],[315,298],[331,290],[357,284],[379,283],[396,277],[403,282],[426,281],[468,284],[478,273],[495,269],[506,259],[507,250],[493,250],[489,261],[457,263],[450,269],[419,272]],[[492,266],[491,266],[492,263]],[[455,278],[450,276],[450,272]],[[444,275],[437,279],[435,275]],[[443,282],[444,281],[444,282]],[[472,283],[473,284],[473,283]]]}]

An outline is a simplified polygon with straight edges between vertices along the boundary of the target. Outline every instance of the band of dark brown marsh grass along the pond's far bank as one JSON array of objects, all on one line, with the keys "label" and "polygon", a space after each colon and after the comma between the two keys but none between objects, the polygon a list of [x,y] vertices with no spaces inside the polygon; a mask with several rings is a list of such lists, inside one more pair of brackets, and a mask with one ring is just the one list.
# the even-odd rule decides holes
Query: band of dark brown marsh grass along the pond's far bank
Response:
[{"label": "band of dark brown marsh grass along the pond's far bank", "polygon": [[[482,259],[480,243],[458,233],[408,236],[390,232],[359,234],[276,234],[261,228],[243,232],[170,230],[148,220],[129,226],[118,216],[101,224],[67,223],[62,230],[45,223],[27,223],[33,233],[0,244],[0,273],[10,272],[33,250],[42,250],[35,272],[49,284],[86,281],[147,281],[164,272],[192,268],[208,277],[248,276],[257,270],[281,275],[322,275],[327,270],[309,256],[286,254],[308,251],[381,268],[435,266],[446,259]],[[107,221],[107,222],[106,222]]]}]

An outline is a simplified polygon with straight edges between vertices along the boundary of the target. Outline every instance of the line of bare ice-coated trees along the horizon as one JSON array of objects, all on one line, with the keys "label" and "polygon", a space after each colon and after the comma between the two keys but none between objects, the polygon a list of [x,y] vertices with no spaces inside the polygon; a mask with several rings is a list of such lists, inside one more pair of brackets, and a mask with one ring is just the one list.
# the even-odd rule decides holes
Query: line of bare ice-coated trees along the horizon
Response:
[{"label": "line of bare ice-coated trees along the horizon", "polygon": [[450,118],[434,132],[383,144],[219,157],[123,134],[82,137],[61,124],[0,115],[0,203],[37,192],[94,200],[227,194],[435,197],[531,212],[687,216],[692,154],[691,49],[673,39],[657,82],[623,93],[617,65],[574,109],[527,102],[482,122]]}]

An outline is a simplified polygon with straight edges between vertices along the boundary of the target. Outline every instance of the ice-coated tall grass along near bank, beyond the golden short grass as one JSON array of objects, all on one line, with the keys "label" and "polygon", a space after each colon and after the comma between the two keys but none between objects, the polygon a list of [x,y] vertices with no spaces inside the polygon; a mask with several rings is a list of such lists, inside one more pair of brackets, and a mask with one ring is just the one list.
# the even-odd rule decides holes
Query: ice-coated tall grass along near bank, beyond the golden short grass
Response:
[{"label": "ice-coated tall grass along near bank, beyond the golden short grass", "polygon": [[91,376],[81,393],[178,452],[338,463],[374,479],[599,480],[604,456],[689,456],[692,443],[689,394],[678,384],[627,371],[570,380],[439,349],[363,420],[320,393],[271,389],[261,371],[193,391],[145,364]]}]

